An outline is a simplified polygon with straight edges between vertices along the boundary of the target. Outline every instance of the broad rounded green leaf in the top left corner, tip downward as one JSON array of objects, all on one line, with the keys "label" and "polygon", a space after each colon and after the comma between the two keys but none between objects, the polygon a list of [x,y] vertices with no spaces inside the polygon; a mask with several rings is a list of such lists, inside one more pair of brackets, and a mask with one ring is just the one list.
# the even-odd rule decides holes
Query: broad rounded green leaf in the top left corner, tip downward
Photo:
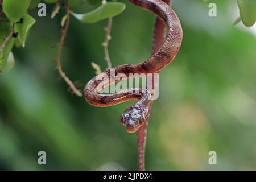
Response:
[{"label": "broad rounded green leaf in the top left corner, tip downward", "polygon": [[15,23],[22,18],[30,6],[30,0],[5,0],[3,1],[3,13]]}]

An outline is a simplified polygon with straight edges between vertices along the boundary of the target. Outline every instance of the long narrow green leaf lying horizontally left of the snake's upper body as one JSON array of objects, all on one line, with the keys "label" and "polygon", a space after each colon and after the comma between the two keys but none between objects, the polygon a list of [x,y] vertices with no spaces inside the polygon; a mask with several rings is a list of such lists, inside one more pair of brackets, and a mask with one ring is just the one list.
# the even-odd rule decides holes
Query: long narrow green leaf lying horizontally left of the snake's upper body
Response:
[{"label": "long narrow green leaf lying horizontally left of the snake's upper body", "polygon": [[83,23],[96,23],[100,20],[117,16],[125,10],[125,3],[121,2],[108,2],[104,5],[97,7],[97,9],[85,14],[76,14],[71,12],[75,18]]}]

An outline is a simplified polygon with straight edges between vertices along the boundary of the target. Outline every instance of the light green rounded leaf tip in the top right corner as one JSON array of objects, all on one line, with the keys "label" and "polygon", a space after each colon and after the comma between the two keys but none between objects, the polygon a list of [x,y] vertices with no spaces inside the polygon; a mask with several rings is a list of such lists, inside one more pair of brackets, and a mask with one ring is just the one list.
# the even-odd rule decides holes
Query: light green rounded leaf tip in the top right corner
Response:
[{"label": "light green rounded leaf tip in the top right corner", "polygon": [[251,27],[256,21],[256,1],[255,0],[237,0],[240,16],[246,27]]}]

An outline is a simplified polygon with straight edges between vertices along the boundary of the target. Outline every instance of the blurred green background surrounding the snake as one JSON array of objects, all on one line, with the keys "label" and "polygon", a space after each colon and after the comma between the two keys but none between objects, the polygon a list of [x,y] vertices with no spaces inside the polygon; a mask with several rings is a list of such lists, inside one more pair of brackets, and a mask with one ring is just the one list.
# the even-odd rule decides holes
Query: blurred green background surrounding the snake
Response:
[{"label": "blurred green background surrounding the snake", "polygon": [[[154,15],[132,5],[113,19],[109,51],[114,66],[150,56]],[[183,44],[160,74],[146,146],[148,170],[256,169],[256,38],[242,24],[236,1],[173,0],[183,25]],[[136,134],[119,123],[133,102],[97,108],[68,92],[59,79],[56,48],[60,20],[36,18],[25,48],[15,48],[16,66],[0,77],[0,169],[137,169]],[[76,12],[84,12],[80,7]],[[64,71],[83,86],[94,76],[90,63],[103,60],[107,22],[71,18]],[[38,151],[47,165],[38,165]],[[217,152],[217,165],[208,152]]]}]

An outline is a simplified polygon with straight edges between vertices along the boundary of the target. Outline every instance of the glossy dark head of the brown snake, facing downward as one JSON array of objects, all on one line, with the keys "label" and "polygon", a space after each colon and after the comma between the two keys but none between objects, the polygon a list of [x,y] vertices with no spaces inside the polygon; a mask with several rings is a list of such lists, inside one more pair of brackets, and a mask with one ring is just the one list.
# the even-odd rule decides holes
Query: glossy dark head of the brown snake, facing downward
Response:
[{"label": "glossy dark head of the brown snake, facing downward", "polygon": [[148,107],[136,104],[127,107],[120,117],[121,123],[125,126],[128,133],[135,133],[143,125],[148,113]]}]

